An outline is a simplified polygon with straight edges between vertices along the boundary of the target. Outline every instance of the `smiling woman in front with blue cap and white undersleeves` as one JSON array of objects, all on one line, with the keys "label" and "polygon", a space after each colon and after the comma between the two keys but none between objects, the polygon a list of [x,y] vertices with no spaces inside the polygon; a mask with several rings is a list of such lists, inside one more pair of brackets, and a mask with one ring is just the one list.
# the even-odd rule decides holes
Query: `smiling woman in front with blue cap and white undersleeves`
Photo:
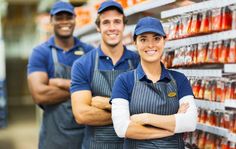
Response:
[{"label": "smiling woman in front with blue cap and white undersleeves", "polygon": [[140,64],[119,75],[112,89],[112,120],[125,149],[184,149],[183,132],[194,131],[197,108],[186,76],[161,63],[165,32],[144,17],[134,30]]}]

